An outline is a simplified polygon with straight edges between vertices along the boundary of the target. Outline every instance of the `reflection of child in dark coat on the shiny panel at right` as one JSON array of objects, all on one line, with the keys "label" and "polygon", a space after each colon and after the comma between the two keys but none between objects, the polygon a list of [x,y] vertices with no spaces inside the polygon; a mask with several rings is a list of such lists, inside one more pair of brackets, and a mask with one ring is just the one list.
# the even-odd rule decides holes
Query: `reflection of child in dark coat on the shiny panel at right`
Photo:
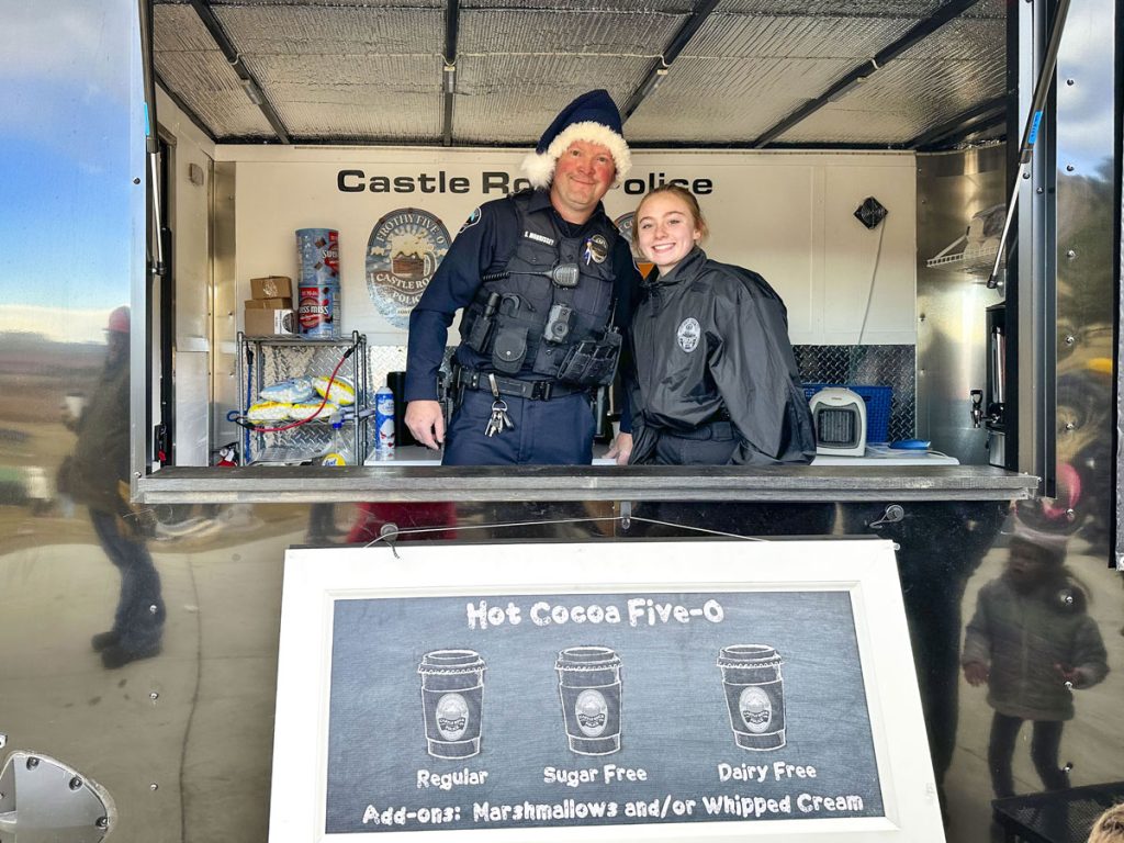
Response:
[{"label": "reflection of child in dark coat on the shiny panel at right", "polygon": [[987,683],[995,709],[988,768],[997,798],[1015,792],[1012,759],[1024,720],[1033,723],[1031,760],[1046,790],[1069,787],[1059,767],[1062,727],[1073,718],[1073,689],[1108,673],[1089,595],[1066,566],[1067,537],[1015,522],[1006,568],[979,592],[968,623],[964,679]]}]

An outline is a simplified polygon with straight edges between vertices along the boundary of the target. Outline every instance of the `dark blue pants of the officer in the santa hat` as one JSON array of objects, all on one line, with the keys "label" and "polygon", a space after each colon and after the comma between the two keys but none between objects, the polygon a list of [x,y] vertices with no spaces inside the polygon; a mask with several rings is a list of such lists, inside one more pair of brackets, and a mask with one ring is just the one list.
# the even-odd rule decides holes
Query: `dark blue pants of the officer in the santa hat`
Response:
[{"label": "dark blue pants of the officer in the santa hat", "polygon": [[501,398],[515,427],[486,436],[495,399],[488,390],[464,391],[445,432],[442,465],[589,465],[593,461],[593,411],[587,393],[549,401]]}]

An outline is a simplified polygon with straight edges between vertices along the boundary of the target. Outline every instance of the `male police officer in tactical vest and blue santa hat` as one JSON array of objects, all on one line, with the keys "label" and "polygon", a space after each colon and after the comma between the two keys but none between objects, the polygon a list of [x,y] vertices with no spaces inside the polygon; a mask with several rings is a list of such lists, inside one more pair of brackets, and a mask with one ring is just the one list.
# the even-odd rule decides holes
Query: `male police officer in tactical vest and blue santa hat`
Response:
[{"label": "male police officer in tactical vest and blue santa hat", "polygon": [[[591,462],[590,396],[613,379],[640,283],[601,206],[629,163],[617,107],[589,91],[524,160],[533,189],[461,228],[410,314],[406,372],[406,424],[423,445],[444,445],[443,464]],[[446,430],[437,373],[459,309]]]}]

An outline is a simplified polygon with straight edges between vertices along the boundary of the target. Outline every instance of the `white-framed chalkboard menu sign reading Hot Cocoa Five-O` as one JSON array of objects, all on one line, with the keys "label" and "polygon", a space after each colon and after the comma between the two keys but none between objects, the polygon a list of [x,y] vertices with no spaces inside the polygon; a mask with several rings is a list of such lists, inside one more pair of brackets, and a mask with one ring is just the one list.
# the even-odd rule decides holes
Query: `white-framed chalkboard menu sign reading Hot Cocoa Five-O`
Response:
[{"label": "white-framed chalkboard menu sign reading Hot Cocoa Five-O", "polygon": [[886,542],[290,551],[270,839],[941,840],[913,676]]}]

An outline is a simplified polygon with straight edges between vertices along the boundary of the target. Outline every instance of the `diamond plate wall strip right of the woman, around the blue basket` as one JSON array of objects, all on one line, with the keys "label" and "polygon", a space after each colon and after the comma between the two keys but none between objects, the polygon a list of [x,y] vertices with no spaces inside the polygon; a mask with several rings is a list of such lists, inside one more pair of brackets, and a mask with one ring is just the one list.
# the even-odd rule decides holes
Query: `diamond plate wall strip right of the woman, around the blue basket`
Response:
[{"label": "diamond plate wall strip right of the woman, around the blue basket", "polygon": [[797,345],[805,383],[890,387],[890,442],[914,437],[917,355],[912,345]]}]

